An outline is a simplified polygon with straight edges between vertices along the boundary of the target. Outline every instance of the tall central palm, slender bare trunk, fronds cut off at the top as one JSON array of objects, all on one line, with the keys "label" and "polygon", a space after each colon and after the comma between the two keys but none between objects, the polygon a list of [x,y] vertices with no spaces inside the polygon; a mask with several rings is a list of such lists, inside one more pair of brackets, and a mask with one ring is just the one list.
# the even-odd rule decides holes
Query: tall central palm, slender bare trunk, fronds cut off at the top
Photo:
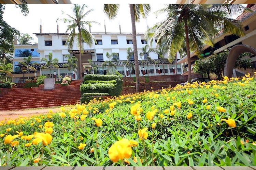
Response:
[{"label": "tall central palm, slender bare trunk, fronds cut off at the top", "polygon": [[[132,26],[132,42],[134,50],[135,61],[135,74],[136,74],[136,92],[139,92],[140,86],[140,71],[139,71],[139,59],[137,50],[137,38],[136,38],[136,26],[135,22],[140,21],[140,16],[146,18],[149,14],[151,7],[150,4],[129,4]],[[114,19],[117,15],[119,4],[104,4],[104,13],[108,15],[110,19]]]}]

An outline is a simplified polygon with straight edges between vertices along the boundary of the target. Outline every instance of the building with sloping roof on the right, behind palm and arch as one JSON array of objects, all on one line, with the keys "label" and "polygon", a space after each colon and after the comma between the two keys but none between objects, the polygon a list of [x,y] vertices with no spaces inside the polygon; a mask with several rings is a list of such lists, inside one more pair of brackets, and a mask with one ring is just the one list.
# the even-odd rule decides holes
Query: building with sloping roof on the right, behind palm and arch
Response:
[{"label": "building with sloping roof on the right, behind palm and arch", "polygon": [[[255,39],[256,39],[256,4],[248,4],[249,8],[251,8],[251,10],[254,11],[254,13],[249,13],[249,12],[245,12],[242,13],[240,16],[237,17],[237,20],[240,20],[241,23],[244,26],[244,31],[245,31],[245,36],[242,37],[238,37],[235,35],[230,35],[230,34],[224,34],[222,31],[219,32],[219,36],[215,37],[215,45],[214,47],[210,47],[210,46],[204,46],[203,47],[203,57],[204,58],[208,58],[210,57],[212,54],[224,51],[225,49],[231,48],[234,45],[238,45],[238,44],[245,44],[248,46],[251,46],[253,48],[256,49],[256,44],[255,44]],[[256,68],[256,56],[255,55],[251,55],[251,56],[247,56],[246,58],[250,58],[251,59],[251,63],[253,65],[253,69],[237,69],[234,68],[233,70],[233,76],[243,76],[244,74],[250,72],[253,73],[255,72],[255,68]],[[193,68],[195,61],[198,60],[198,57],[195,55],[194,52],[190,53],[190,61],[191,61],[191,69]],[[184,63],[184,67],[186,69],[188,69],[188,62],[187,62],[187,56],[181,58],[181,60],[179,60],[177,63]],[[192,73],[194,73],[193,69],[191,71]],[[188,75],[188,71],[186,71],[183,75]]]}]

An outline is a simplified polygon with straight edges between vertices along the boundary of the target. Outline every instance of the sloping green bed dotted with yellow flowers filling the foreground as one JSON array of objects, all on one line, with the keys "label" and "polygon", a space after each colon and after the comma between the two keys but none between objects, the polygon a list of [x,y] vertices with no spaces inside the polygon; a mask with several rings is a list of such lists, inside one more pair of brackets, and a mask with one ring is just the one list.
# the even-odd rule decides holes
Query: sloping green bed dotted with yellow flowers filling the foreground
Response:
[{"label": "sloping green bed dotted with yellow flowers filling the foreground", "polygon": [[247,75],[7,119],[1,166],[256,166],[255,96]]}]

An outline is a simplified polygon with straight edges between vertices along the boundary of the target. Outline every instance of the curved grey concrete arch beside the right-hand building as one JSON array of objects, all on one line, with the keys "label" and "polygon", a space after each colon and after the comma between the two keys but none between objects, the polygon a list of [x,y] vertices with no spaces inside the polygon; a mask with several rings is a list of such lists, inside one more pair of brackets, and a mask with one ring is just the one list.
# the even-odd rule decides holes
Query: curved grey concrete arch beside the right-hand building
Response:
[{"label": "curved grey concrete arch beside the right-hand building", "polygon": [[235,45],[230,49],[227,57],[227,61],[225,64],[225,68],[224,68],[224,74],[223,74],[224,76],[227,76],[228,78],[232,77],[232,72],[233,72],[237,57],[244,52],[250,52],[256,55],[256,49],[248,45]]}]

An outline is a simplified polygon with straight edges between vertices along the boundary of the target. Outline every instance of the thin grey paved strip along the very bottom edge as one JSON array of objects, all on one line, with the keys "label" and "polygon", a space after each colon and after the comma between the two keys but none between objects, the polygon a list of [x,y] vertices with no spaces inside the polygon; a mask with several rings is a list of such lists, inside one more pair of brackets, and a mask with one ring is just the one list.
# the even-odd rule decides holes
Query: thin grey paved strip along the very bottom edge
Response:
[{"label": "thin grey paved strip along the very bottom edge", "polygon": [[256,167],[0,167],[0,170],[256,170]]}]

